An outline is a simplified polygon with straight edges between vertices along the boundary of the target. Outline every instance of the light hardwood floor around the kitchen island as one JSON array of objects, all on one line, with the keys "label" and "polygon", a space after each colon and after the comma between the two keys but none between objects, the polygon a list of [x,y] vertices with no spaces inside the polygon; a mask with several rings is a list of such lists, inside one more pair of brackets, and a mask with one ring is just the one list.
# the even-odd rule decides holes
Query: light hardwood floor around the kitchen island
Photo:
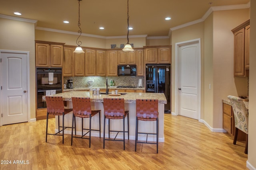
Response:
[{"label": "light hardwood floor around the kitchen island", "polygon": [[[55,128],[54,119],[49,129]],[[134,140],[122,142],[106,141],[92,137],[88,140],[73,139],[65,135],[48,136],[45,142],[46,120],[18,123],[0,127],[0,160],[11,164],[0,164],[1,170],[84,170],[84,169],[163,169],[163,170],[245,170],[247,155],[244,142],[233,140],[226,133],[213,133],[197,120],[182,116],[164,115],[165,142],[156,145],[138,144],[134,151]],[[17,161],[23,164],[14,164]],[[22,162],[23,161],[23,162]],[[26,162],[28,161],[28,162]],[[28,163],[28,164],[24,164]]]}]

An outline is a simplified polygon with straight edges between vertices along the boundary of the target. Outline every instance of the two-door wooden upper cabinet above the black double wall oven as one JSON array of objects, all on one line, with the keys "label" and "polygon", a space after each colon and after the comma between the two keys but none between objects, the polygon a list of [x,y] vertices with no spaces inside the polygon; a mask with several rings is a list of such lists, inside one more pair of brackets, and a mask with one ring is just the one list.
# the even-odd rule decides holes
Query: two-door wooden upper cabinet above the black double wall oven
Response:
[{"label": "two-door wooden upper cabinet above the black double wall oven", "polygon": [[36,66],[62,67],[64,43],[36,41]]}]

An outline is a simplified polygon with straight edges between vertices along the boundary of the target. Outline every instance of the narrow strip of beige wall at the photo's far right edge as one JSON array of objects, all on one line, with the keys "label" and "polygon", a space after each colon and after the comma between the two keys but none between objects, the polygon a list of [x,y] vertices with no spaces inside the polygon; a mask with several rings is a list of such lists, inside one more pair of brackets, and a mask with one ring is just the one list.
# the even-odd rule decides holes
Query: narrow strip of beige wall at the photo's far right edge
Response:
[{"label": "narrow strip of beige wall at the photo's far right edge", "polygon": [[[256,1],[251,0],[250,10],[250,87],[248,162],[256,168]],[[252,114],[251,114],[252,113]]]}]

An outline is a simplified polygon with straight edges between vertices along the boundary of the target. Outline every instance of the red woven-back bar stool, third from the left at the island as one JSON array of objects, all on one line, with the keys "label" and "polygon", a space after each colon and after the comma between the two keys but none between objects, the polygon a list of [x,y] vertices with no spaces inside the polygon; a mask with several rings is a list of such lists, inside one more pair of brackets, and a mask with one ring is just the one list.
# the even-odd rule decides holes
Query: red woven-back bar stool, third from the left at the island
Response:
[{"label": "red woven-back bar stool, third from the left at the island", "polygon": [[[104,98],[103,99],[104,106],[104,135],[103,135],[103,149],[105,148],[105,140],[106,141],[123,141],[124,149],[125,149],[125,133],[128,133],[129,140],[129,111],[124,110],[124,99],[123,98]],[[127,131],[125,131],[125,123],[124,118],[127,116]],[[106,119],[108,119],[108,138],[105,139],[105,127],[106,127]],[[110,131],[110,119],[123,119],[123,131]],[[110,132],[117,132],[116,137],[119,132],[123,133],[123,140],[110,139]]]}]

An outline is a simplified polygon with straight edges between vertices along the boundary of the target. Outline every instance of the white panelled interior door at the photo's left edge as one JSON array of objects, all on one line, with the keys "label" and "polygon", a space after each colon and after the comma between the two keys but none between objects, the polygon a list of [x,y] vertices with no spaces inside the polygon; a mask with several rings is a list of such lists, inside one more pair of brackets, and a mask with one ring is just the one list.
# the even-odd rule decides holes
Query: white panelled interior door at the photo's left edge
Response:
[{"label": "white panelled interior door at the photo's left edge", "polygon": [[28,121],[28,53],[1,52],[2,125]]}]

